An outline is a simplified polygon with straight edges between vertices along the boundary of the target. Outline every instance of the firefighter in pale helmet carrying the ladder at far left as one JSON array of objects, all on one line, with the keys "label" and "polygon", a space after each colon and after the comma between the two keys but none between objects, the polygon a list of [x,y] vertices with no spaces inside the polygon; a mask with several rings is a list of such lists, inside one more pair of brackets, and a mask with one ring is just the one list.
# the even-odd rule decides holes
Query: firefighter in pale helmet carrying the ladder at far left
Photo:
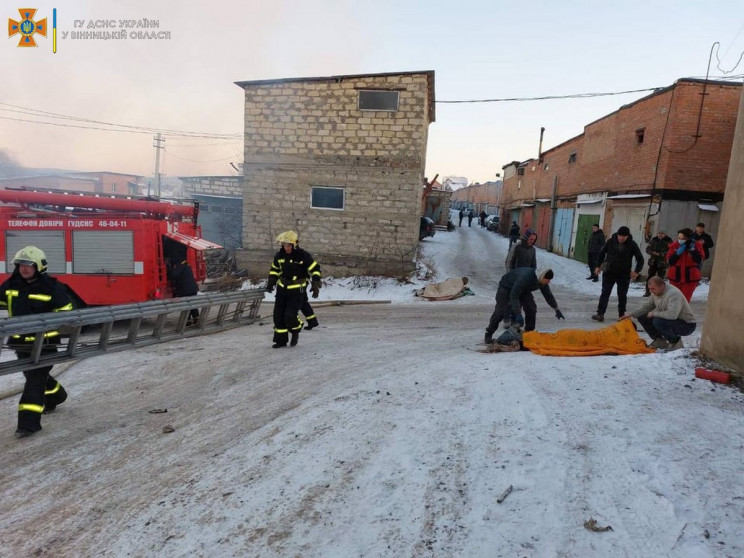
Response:
[{"label": "firefighter in pale helmet carrying the ladder at far left", "polygon": [[[0,285],[0,307],[8,310],[8,316],[25,316],[44,312],[72,310],[72,302],[64,285],[47,275],[44,252],[36,246],[26,246],[13,258],[15,270]],[[56,353],[59,332],[44,333],[42,354]],[[18,358],[31,354],[33,335],[12,335],[9,345]],[[26,385],[18,405],[18,429],[16,438],[25,438],[41,430],[42,413],[52,412],[67,399],[67,392],[49,373],[51,366],[43,366],[23,372]]]}]

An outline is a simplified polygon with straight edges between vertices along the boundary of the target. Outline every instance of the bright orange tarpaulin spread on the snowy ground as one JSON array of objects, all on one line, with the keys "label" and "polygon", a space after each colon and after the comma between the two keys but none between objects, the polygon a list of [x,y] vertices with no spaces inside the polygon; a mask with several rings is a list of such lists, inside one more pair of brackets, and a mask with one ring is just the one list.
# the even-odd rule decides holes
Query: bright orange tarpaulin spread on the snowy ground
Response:
[{"label": "bright orange tarpaulin spread on the snowy ground", "polygon": [[638,336],[631,320],[602,329],[561,329],[555,333],[526,331],[522,343],[533,353],[552,356],[638,355],[654,353]]}]

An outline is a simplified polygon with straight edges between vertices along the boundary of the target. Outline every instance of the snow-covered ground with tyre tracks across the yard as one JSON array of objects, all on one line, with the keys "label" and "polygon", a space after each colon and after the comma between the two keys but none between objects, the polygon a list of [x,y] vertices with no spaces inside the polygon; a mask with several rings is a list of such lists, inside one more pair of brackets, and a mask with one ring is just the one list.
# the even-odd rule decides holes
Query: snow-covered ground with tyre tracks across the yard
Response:
[{"label": "snow-covered ground with tyre tracks across the yard", "polygon": [[[319,302],[391,304],[318,305],[295,348],[270,348],[267,318],[83,360],[31,438],[0,401],[0,555],[743,556],[744,395],[696,380],[691,349],[478,352],[507,244],[477,226],[422,243],[433,280],[470,278],[457,300],[327,280]],[[538,264],[567,318],[538,294],[538,329],[599,327],[586,266]]]}]

